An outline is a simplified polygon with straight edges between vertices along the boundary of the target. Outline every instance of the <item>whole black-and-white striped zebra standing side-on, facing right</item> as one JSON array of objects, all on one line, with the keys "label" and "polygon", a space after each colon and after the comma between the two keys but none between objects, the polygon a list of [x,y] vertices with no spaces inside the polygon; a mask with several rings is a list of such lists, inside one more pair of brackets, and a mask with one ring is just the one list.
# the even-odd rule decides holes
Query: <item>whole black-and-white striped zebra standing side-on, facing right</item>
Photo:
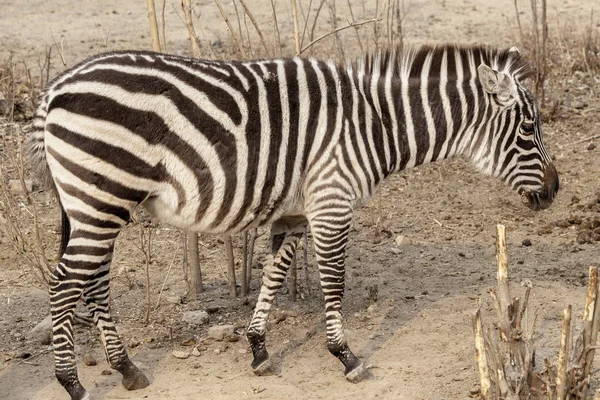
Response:
[{"label": "whole black-and-white striped zebra standing side-on, facing right", "polygon": [[139,205],[186,231],[271,226],[273,259],[246,332],[258,375],[271,367],[269,310],[308,226],[328,350],[348,380],[363,379],[342,323],[353,210],[392,173],[459,155],[531,209],[549,207],[559,180],[524,85],[531,74],[516,48],[455,44],[378,51],[347,65],[121,51],[60,74],[27,137],[61,208],[61,258],[49,285],[58,381],[72,399],[89,398],[73,344],[82,298],[123,385],[149,385],[109,310],[114,242]]}]

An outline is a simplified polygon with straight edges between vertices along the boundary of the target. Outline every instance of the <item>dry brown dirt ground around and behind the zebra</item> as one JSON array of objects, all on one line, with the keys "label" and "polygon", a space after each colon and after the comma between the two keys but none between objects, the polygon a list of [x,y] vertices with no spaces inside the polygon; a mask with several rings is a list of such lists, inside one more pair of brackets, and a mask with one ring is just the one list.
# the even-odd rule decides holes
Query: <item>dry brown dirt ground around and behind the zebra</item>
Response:
[{"label": "dry brown dirt ground around and behind the zebra", "polygon": [[[219,57],[235,57],[214,3],[194,3],[203,43],[213,43]],[[338,3],[339,23],[345,24],[348,10],[341,4],[345,2]],[[360,10],[359,20],[363,2],[353,3]],[[365,15],[370,18],[375,2],[366,3]],[[522,3],[526,25],[529,2]],[[306,11],[308,1],[301,4]],[[403,29],[410,43],[452,40],[510,47],[518,37],[511,0],[414,0],[406,4],[410,6]],[[179,7],[178,1],[167,1],[167,49],[187,54],[189,41]],[[551,31],[580,35],[577,28],[590,26],[594,7],[600,11],[593,0],[549,2]],[[234,12],[230,2],[226,11]],[[252,12],[261,26],[270,26],[269,1],[252,2]],[[278,15],[284,51],[287,48],[289,53],[294,45],[288,2],[278,2]],[[600,34],[600,24],[591,26]],[[329,29],[319,25],[317,32]],[[51,32],[57,42],[62,40],[68,65],[101,51],[150,47],[145,2],[141,0],[4,0],[0,60],[12,54],[13,60],[27,63],[35,75],[45,49],[53,43]],[[352,35],[346,34],[347,55],[359,54]],[[255,54],[263,56],[256,50],[257,43],[253,43]],[[328,46],[321,46],[316,54],[332,54],[333,42]],[[51,75],[63,68],[57,52],[52,65]],[[180,234],[165,226],[154,230],[150,265],[153,311],[145,324],[144,256],[139,248],[139,228],[131,226],[119,238],[112,266],[113,315],[130,356],[148,374],[151,385],[128,392],[117,373],[104,375],[109,368],[95,328],[76,325],[83,385],[95,399],[468,398],[478,386],[471,318],[479,302],[484,320],[490,321],[493,315],[487,290],[495,285],[497,223],[505,224],[508,233],[514,294],[522,293],[520,283],[533,284],[530,309],[538,312],[537,365],[542,365],[544,358],[554,361],[562,310],[573,305],[575,320],[580,321],[588,267],[598,265],[600,256],[600,242],[578,241],[582,226],[578,222],[600,218],[600,139],[587,140],[600,132],[600,77],[578,71],[561,79],[552,85],[551,95],[559,100],[554,120],[544,127],[561,182],[550,209],[530,211],[502,183],[475,172],[462,160],[453,160],[394,175],[370,204],[356,213],[347,257],[345,327],[355,353],[372,367],[369,380],[348,383],[342,365],[326,349],[323,302],[311,257],[310,292],[303,279],[303,298],[298,302],[291,302],[284,290],[274,308],[285,312],[287,318],[272,318],[268,325],[274,375],[253,375],[251,353],[243,336],[227,344],[203,343],[208,326],[192,328],[182,322],[183,312],[206,309],[209,325],[234,324],[242,334],[250,320],[257,281],[253,281],[248,299],[229,299],[224,249],[218,238],[201,238],[206,291],[200,300],[186,301]],[[4,123],[2,126],[6,128]],[[47,253],[52,255],[58,246],[58,207],[48,193],[36,193],[35,199]],[[398,235],[408,238],[408,244],[397,245]],[[531,245],[525,246],[525,239]],[[239,248],[236,251],[239,253]],[[260,264],[265,260],[264,237],[257,252]],[[303,277],[304,271],[299,271],[299,276]],[[0,233],[0,398],[66,399],[66,392],[54,379],[51,351],[28,335],[49,314],[47,294],[33,282],[10,238]],[[375,305],[371,305],[368,291],[373,286],[378,289]],[[177,298],[183,302],[172,302]],[[530,315],[528,322],[531,320]],[[184,345],[189,339],[196,341],[201,355],[173,357],[173,350],[191,351]],[[25,353],[31,356],[24,357]],[[85,366],[85,354],[93,355],[98,365]],[[596,365],[599,363],[597,357]],[[593,385],[600,387],[597,381]]]}]

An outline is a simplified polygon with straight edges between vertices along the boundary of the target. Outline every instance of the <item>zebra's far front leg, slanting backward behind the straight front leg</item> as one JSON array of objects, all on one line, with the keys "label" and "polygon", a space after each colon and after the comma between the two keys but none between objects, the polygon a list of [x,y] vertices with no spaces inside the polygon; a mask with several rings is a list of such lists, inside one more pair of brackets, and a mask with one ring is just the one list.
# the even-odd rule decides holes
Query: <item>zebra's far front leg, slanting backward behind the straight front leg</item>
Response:
[{"label": "zebra's far front leg, slanting backward behind the straight front leg", "polygon": [[267,318],[273,299],[285,281],[305,226],[304,219],[280,219],[271,227],[270,243],[274,257],[263,270],[260,294],[246,333],[253,355],[252,370],[257,375],[265,375],[271,370],[271,361],[265,346]]}]

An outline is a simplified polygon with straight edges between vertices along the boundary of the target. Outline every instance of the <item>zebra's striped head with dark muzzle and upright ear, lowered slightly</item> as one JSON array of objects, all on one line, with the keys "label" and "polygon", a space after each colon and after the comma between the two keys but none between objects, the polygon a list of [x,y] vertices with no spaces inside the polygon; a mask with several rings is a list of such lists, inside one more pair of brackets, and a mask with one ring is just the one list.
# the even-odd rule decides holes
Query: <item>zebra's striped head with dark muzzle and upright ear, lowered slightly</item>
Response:
[{"label": "zebra's striped head with dark muzzle and upright ear, lowered slightly", "polygon": [[473,162],[506,182],[532,210],[548,208],[558,192],[558,173],[542,141],[536,101],[523,84],[531,69],[515,47],[488,60],[491,66],[477,68],[486,117],[471,147]]}]

